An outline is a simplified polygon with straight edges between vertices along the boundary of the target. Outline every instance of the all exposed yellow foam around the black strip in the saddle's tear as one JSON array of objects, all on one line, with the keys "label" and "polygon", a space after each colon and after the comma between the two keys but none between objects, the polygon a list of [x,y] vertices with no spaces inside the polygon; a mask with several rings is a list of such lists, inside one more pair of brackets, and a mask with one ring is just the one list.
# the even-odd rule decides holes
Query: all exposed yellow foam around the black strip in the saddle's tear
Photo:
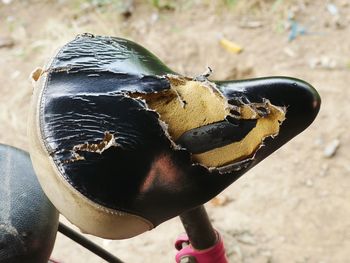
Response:
[{"label": "all exposed yellow foam around the black strip in the saddle's tear", "polygon": [[[160,115],[173,141],[189,130],[224,120],[230,115],[230,107],[234,107],[229,106],[225,97],[208,82],[180,77],[169,77],[169,80],[171,88],[166,91],[130,96],[144,99],[148,107]],[[256,110],[261,105],[267,110],[265,116],[260,116]],[[206,167],[221,167],[252,157],[266,137],[278,134],[285,119],[285,110],[268,101],[241,105],[239,112],[241,121],[257,119],[256,127],[239,142],[193,154],[193,161]]]}]

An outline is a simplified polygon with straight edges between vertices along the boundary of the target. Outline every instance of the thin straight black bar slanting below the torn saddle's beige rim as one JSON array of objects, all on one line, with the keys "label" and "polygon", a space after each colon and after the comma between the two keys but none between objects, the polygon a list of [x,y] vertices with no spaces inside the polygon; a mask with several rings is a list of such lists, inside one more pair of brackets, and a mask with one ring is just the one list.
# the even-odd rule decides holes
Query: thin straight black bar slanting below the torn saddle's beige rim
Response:
[{"label": "thin straight black bar slanting below the torn saddle's beige rim", "polygon": [[91,240],[80,235],[79,233],[69,228],[68,226],[62,224],[61,222],[58,225],[58,231],[109,263],[123,263],[123,261],[121,261],[113,254],[109,253],[107,250],[96,245]]}]

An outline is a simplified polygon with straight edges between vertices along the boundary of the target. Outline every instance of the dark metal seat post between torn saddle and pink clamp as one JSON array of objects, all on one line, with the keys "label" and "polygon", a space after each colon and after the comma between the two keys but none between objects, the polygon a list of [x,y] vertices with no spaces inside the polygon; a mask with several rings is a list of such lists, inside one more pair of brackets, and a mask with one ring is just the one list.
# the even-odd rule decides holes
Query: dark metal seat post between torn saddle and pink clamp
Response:
[{"label": "dark metal seat post between torn saddle and pink clamp", "polygon": [[203,205],[182,213],[180,219],[193,248],[204,250],[217,243],[217,233]]}]

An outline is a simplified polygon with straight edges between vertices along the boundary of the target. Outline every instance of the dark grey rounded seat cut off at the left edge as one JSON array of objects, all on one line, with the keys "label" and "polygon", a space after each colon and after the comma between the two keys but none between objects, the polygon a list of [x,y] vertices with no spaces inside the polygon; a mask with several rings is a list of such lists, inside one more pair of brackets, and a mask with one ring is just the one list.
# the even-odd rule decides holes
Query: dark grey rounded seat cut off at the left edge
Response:
[{"label": "dark grey rounded seat cut off at the left edge", "polygon": [[45,196],[29,155],[0,144],[0,262],[47,263],[58,212]]}]

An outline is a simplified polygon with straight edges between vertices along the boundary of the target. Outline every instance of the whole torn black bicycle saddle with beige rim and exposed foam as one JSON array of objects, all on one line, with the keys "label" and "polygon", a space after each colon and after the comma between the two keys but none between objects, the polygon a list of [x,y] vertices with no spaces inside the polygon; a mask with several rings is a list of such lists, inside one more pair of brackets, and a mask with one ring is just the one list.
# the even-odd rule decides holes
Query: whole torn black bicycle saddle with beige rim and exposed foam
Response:
[{"label": "whole torn black bicycle saddle with beige rim and exposed foam", "polygon": [[33,78],[39,181],[83,232],[112,239],[210,200],[309,126],[320,106],[301,80],[189,78],[136,43],[90,34]]}]

